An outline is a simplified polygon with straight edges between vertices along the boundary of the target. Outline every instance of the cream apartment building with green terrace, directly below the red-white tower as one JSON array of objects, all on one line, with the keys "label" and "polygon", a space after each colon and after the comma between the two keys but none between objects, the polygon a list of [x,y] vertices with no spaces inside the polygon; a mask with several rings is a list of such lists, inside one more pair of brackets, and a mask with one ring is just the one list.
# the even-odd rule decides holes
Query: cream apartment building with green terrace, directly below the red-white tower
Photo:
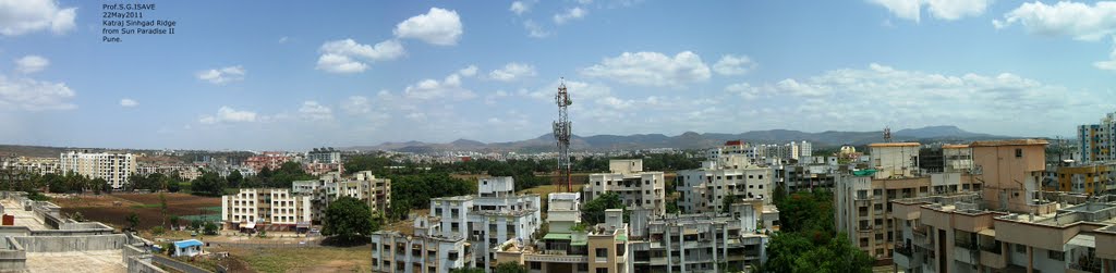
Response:
[{"label": "cream apartment building with green terrace, directly below the red-white tower", "polygon": [[[569,194],[551,194],[547,215],[575,212]],[[556,206],[558,205],[558,206]],[[573,206],[571,206],[573,205]],[[497,248],[499,263],[518,263],[529,272],[633,272],[629,254],[628,225],[624,209],[606,209],[605,223],[594,226],[575,225],[565,228],[568,218],[550,221],[550,231],[540,240],[502,242]]]}]

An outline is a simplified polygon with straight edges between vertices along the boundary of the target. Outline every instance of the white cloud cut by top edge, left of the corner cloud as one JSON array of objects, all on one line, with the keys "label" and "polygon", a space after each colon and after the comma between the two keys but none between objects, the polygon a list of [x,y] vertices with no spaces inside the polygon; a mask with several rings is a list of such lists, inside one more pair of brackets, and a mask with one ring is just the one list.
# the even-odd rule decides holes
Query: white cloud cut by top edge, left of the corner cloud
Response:
[{"label": "white cloud cut by top edge, left of the corner cloud", "polygon": [[965,17],[978,17],[984,13],[992,0],[868,0],[883,6],[898,18],[920,21],[922,6],[926,6],[930,14],[942,20],[958,20]]}]

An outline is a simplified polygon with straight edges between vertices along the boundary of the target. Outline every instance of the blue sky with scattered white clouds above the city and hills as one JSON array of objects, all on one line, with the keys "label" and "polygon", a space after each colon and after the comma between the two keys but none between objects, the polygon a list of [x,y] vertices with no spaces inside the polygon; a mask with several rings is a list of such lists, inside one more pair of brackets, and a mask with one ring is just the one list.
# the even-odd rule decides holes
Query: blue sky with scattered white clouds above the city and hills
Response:
[{"label": "blue sky with scattered white clouds above the city and hills", "polygon": [[[307,149],[549,134],[1072,137],[1116,111],[1116,1],[0,0],[0,144]],[[115,27],[108,27],[115,28]]]}]

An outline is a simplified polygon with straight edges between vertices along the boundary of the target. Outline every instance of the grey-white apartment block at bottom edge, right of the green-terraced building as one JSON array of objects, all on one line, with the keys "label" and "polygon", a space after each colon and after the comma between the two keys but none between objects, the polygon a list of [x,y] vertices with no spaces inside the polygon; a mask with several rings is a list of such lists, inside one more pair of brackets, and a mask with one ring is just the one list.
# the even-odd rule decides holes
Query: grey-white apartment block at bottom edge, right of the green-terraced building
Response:
[{"label": "grey-white apartment block at bottom edge, right of the green-terraced building", "polygon": [[773,225],[762,223],[778,223],[778,212],[764,215],[763,206],[762,202],[739,203],[732,213],[660,217],[635,211],[629,271],[747,271],[767,260],[767,233]]}]

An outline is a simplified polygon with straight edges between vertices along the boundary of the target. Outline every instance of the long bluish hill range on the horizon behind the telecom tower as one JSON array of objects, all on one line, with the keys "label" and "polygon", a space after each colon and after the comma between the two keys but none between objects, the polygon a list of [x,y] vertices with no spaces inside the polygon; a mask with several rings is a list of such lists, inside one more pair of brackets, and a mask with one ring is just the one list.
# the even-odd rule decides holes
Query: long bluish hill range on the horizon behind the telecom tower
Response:
[{"label": "long bluish hill range on the horizon behind the telecom tower", "polygon": [[[1010,136],[994,136],[989,134],[971,133],[956,126],[930,126],[923,128],[901,129],[893,134],[895,142],[921,142],[921,143],[965,143],[972,140],[1014,138]],[[680,148],[698,149],[715,147],[728,140],[743,139],[748,143],[759,144],[782,144],[787,142],[810,142],[816,148],[834,147],[840,145],[866,145],[883,142],[883,131],[837,131],[827,130],[821,133],[806,133],[799,130],[753,130],[741,134],[720,133],[694,133],[686,131],[677,136],[666,136],[663,134],[639,134],[639,135],[595,135],[595,136],[571,136],[570,148],[574,150],[615,150],[615,149],[646,149],[646,148]],[[376,146],[358,146],[347,149],[359,150],[396,150],[411,153],[431,153],[442,150],[478,150],[478,152],[550,152],[555,149],[555,138],[550,134],[519,142],[509,143],[481,143],[469,139],[458,139],[448,144],[429,144],[422,142],[406,143],[384,143]]]}]

